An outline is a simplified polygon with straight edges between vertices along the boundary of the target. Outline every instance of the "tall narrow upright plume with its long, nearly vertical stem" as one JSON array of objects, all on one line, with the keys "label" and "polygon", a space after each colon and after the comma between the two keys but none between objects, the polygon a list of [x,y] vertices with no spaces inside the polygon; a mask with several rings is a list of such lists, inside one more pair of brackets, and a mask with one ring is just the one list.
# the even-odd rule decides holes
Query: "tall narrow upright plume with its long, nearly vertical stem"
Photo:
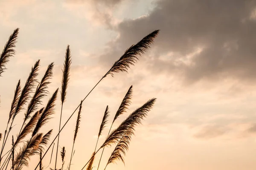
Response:
[{"label": "tall narrow upright plume with its long, nearly vertical stem", "polygon": [[[64,62],[64,68],[62,70],[62,81],[61,81],[61,116],[60,116],[60,123],[59,123],[59,132],[61,130],[62,108],[63,108],[63,103],[64,103],[64,101],[66,99],[67,84],[68,84],[69,76],[70,76],[70,65],[71,65],[70,46],[67,45],[66,55],[65,55],[65,62]],[[56,165],[57,165],[59,138],[60,138],[60,135],[58,134],[58,142],[57,142],[57,150],[56,150],[56,159],[55,159],[55,168],[54,169],[56,169]]]}]

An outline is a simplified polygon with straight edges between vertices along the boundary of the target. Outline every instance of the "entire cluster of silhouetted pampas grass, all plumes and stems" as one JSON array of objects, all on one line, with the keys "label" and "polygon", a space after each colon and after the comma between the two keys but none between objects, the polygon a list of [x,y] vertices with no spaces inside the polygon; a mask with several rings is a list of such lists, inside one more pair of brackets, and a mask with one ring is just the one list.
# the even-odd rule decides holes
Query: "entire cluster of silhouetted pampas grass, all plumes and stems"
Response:
[{"label": "entire cluster of silhouetted pampas grass, all plumes and stems", "polygon": [[[15,48],[15,43],[17,41],[18,31],[19,31],[18,28],[15,29],[13,34],[9,37],[9,40],[6,43],[3,49],[3,52],[1,53],[0,76],[6,70],[6,64],[9,61],[10,57],[13,57],[13,55],[15,54],[14,48]],[[79,125],[81,123],[82,103],[105,77],[107,77],[108,75],[111,75],[113,77],[114,74],[117,74],[119,72],[128,72],[128,69],[131,67],[131,65],[134,65],[139,60],[139,56],[148,50],[150,45],[154,42],[154,38],[157,36],[158,33],[159,33],[159,30],[153,31],[147,36],[145,36],[142,40],[140,40],[137,44],[131,45],[131,47],[128,48],[125,51],[125,53],[116,62],[114,62],[112,67],[109,69],[109,71],[107,71],[106,74],[102,76],[99,82],[96,83],[96,85],[89,91],[89,93],[84,97],[84,99],[81,100],[80,104],[73,111],[73,113],[70,114],[69,118],[64,123],[64,125],[61,126],[62,109],[63,109],[63,104],[67,98],[67,85],[70,78],[70,65],[71,65],[70,47],[69,45],[67,45],[64,68],[62,70],[63,74],[62,74],[61,94],[60,94],[61,96],[61,112],[60,113],[61,114],[60,114],[60,121],[59,121],[59,130],[58,130],[58,134],[54,137],[52,142],[49,142],[52,136],[52,130],[49,130],[45,134],[40,131],[41,131],[41,128],[44,125],[47,125],[50,119],[52,119],[53,114],[55,114],[55,103],[57,100],[58,89],[54,91],[54,93],[52,94],[49,101],[44,107],[41,108],[40,105],[43,104],[42,100],[47,96],[47,94],[49,94],[47,89],[50,84],[50,79],[52,79],[52,76],[53,76],[52,70],[53,70],[54,63],[52,62],[48,65],[48,68],[44,76],[42,77],[41,81],[38,82],[37,77],[38,77],[40,60],[35,62],[35,65],[32,67],[29,77],[27,78],[23,88],[21,88],[20,80],[17,82],[3,139],[2,139],[2,133],[0,133],[0,141],[3,141],[1,146],[1,152],[0,152],[0,170],[7,170],[9,166],[11,167],[10,169],[12,170],[21,170],[23,167],[28,167],[29,161],[32,158],[32,156],[38,156],[39,158],[38,159],[39,161],[35,167],[35,170],[37,169],[38,166],[39,166],[39,170],[47,169],[51,164],[52,153],[53,153],[54,144],[55,144],[54,142],[57,138],[58,138],[57,154],[55,158],[54,170],[64,170],[64,164],[65,164],[64,158],[66,156],[66,149],[67,149],[65,147],[62,147],[61,149],[60,161],[62,161],[62,166],[60,169],[56,168],[56,164],[58,161],[58,144],[60,142],[59,136],[63,128],[67,125],[68,122],[70,122],[70,119],[74,115],[76,110],[79,109],[77,119],[76,119],[74,137],[73,137],[73,145],[72,145],[72,150],[70,154],[70,162],[68,163],[68,166],[67,166],[67,170],[70,170],[71,161],[75,153],[75,142],[76,142],[78,131],[79,131]],[[116,121],[116,119],[118,119],[120,115],[128,111],[128,106],[131,105],[132,92],[133,92],[133,87],[131,86],[128,89],[127,93],[125,94],[125,97],[123,98],[118,110],[116,111],[116,114],[113,118],[113,121],[111,122],[111,126],[108,130],[108,135],[105,141],[102,144],[100,144],[100,147],[97,147],[99,144],[98,143],[99,137],[104,133],[104,129],[106,128],[106,125],[108,123],[108,118],[110,116],[109,108],[108,106],[106,107],[103,118],[102,118],[102,123],[99,126],[99,133],[98,133],[96,146],[94,148],[94,152],[91,158],[84,165],[84,167],[81,168],[81,170],[83,170],[87,166],[87,164],[88,164],[87,170],[92,170],[93,161],[96,157],[96,154],[99,152],[100,149],[103,148],[101,157],[100,157],[100,160],[101,160],[104,147],[106,146],[111,147],[113,145],[116,145],[114,147],[113,152],[111,153],[111,156],[108,159],[107,164],[105,165],[105,169],[108,166],[108,164],[111,164],[118,160],[121,160],[124,163],[124,156],[125,156],[125,153],[128,151],[131,137],[134,135],[134,132],[135,132],[135,127],[141,124],[142,120],[145,119],[148,112],[152,109],[154,102],[156,101],[155,98],[148,100],[148,102],[146,102],[140,108],[137,108],[134,112],[132,112],[116,129],[112,130],[113,123]],[[27,106],[27,109],[25,109],[25,106]],[[13,122],[17,114],[19,113],[24,113],[24,119],[20,123],[21,125],[20,131],[19,133],[16,134],[15,139],[14,139],[14,136],[12,135],[12,140],[11,140],[12,143],[10,144],[11,149],[6,153],[4,153],[5,147],[7,147],[6,142],[9,141],[8,140],[9,134],[11,133]],[[42,162],[43,162],[44,156],[47,154],[47,152],[51,147],[52,147],[52,153],[51,153],[49,165],[48,167],[43,167]],[[5,158],[4,161],[3,161],[3,158]],[[9,161],[11,161],[10,164],[9,164]],[[3,164],[1,164],[1,162],[3,162]],[[99,161],[99,165],[100,165],[100,161]],[[98,165],[98,169],[99,169],[99,165]],[[49,169],[53,170],[52,168],[49,168]]]}]

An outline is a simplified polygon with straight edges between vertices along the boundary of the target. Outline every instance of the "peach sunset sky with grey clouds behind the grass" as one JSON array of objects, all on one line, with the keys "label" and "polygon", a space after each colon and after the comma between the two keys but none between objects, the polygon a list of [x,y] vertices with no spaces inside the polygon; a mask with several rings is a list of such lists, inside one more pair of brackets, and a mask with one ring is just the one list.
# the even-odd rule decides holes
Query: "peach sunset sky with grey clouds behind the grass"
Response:
[{"label": "peach sunset sky with grey clouds behind the grass", "polygon": [[[67,120],[128,47],[160,29],[154,44],[128,73],[106,77],[84,101],[71,167],[79,170],[90,159],[105,107],[109,106],[112,120],[133,85],[129,111],[114,127],[148,99],[157,101],[143,125],[136,127],[125,165],[118,161],[106,170],[256,169],[255,0],[0,0],[2,48],[15,28],[20,28],[16,54],[0,77],[0,133],[18,80],[24,85],[38,59],[38,79],[49,63],[55,63],[46,104],[61,87],[70,45],[72,65],[62,117]],[[54,119],[44,132],[58,133],[60,109],[58,96]],[[14,132],[22,119],[20,113]],[[59,146],[67,149],[64,168],[75,125],[76,115],[60,136]],[[106,149],[99,170],[112,151],[113,147]],[[49,158],[48,153],[45,166]],[[28,169],[38,159],[34,156]],[[98,162],[99,155],[93,166]]]}]

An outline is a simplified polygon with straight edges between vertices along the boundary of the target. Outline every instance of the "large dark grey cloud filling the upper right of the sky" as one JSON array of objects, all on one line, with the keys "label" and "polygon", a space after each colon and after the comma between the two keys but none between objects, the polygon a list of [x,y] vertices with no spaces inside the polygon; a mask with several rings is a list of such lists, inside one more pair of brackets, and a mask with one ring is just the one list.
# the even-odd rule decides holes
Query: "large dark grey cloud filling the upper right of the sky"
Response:
[{"label": "large dark grey cloud filling the upper right of the sky", "polygon": [[[160,29],[154,57],[147,59],[153,73],[176,74],[189,83],[205,78],[255,79],[256,20],[250,19],[255,7],[254,0],[158,0],[148,16],[124,20],[114,28],[119,38],[109,42],[101,60],[111,64],[130,45]],[[177,64],[197,48],[202,51],[190,59],[192,64]],[[172,56],[161,58],[170,52]]]}]

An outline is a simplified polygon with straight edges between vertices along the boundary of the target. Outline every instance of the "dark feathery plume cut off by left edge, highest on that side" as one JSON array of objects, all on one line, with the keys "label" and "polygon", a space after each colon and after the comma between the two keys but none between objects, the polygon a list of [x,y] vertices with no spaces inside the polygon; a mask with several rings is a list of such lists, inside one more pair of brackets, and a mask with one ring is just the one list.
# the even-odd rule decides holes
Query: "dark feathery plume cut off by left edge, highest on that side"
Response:
[{"label": "dark feathery plume cut off by left edge, highest on that side", "polygon": [[16,28],[10,35],[9,40],[6,42],[6,45],[4,46],[3,51],[0,55],[0,77],[2,73],[6,70],[7,62],[9,62],[9,59],[15,54],[14,48],[17,42],[18,33],[19,28]]}]

